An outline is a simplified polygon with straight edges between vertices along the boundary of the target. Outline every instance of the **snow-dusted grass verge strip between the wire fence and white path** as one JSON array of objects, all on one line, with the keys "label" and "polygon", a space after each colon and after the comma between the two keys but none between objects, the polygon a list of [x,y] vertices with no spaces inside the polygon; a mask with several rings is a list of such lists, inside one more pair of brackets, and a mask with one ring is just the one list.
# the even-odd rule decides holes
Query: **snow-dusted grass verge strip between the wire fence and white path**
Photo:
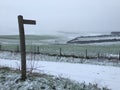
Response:
[{"label": "snow-dusted grass verge strip between the wire fence and white path", "polygon": [[[116,57],[115,55],[110,55],[108,58]],[[0,51],[0,59],[9,60],[20,60],[20,53]],[[52,62],[69,62],[69,63],[82,63],[82,64],[94,64],[94,65],[106,65],[106,66],[117,66],[120,67],[120,61],[117,59],[82,59],[73,57],[59,57],[59,56],[47,56],[42,54],[26,54],[27,60],[36,61],[52,61]]]}]

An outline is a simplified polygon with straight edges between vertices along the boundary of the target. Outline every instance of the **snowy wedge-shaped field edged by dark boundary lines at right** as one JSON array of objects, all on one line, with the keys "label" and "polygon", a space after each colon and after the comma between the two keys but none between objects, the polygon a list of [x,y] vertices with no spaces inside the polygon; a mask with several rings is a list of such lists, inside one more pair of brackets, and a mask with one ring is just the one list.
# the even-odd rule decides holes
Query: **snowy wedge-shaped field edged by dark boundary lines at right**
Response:
[{"label": "snowy wedge-shaped field edged by dark boundary lines at right", "polygon": [[98,35],[98,36],[81,36],[76,37],[67,43],[88,44],[88,43],[104,43],[104,42],[120,42],[119,35]]}]

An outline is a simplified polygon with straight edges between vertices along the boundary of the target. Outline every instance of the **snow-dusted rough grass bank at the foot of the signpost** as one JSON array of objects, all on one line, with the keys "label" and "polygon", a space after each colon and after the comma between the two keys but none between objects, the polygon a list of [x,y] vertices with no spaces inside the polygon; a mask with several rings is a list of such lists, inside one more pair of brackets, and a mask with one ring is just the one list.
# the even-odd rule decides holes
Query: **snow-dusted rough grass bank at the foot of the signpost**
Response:
[{"label": "snow-dusted rough grass bank at the foot of the signpost", "polygon": [[27,73],[27,79],[20,79],[20,71],[0,67],[0,90],[109,90],[97,84],[78,83],[68,78],[44,73]]}]

